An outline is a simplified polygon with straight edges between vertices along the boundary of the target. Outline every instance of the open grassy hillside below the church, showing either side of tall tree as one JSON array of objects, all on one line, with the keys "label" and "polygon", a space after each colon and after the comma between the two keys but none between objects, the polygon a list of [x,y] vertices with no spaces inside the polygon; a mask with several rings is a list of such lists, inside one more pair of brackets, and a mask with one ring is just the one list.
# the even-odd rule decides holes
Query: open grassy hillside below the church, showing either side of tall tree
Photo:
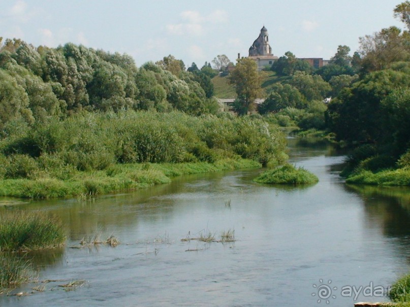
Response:
[{"label": "open grassy hillside below the church, showing either side of tall tree", "polygon": [[[266,93],[269,93],[272,84],[287,79],[287,77],[277,77],[274,72],[260,72],[260,74],[262,76],[261,86],[265,89]],[[212,83],[215,97],[234,98],[236,96],[234,87],[228,82],[228,76],[216,76],[212,78]]]}]

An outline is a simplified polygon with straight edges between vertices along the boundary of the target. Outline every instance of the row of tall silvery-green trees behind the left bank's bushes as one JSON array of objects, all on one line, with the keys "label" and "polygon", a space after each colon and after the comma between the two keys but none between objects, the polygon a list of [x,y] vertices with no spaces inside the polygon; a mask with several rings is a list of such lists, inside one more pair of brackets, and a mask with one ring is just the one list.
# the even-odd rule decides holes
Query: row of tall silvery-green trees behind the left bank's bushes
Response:
[{"label": "row of tall silvery-green trees behind the left bank's bushes", "polygon": [[173,56],[137,69],[126,54],[68,43],[35,48],[20,40],[0,46],[0,128],[64,118],[81,110],[180,110],[216,113],[209,76],[186,72]]}]

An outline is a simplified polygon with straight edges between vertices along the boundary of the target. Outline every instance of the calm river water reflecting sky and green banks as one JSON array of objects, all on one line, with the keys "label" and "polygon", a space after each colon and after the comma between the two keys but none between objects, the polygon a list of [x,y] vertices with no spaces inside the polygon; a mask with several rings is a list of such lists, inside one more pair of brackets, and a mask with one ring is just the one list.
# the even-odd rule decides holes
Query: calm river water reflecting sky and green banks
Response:
[{"label": "calm river water reflecting sky and green banks", "polygon": [[[0,306],[353,306],[388,300],[409,269],[410,189],[348,186],[343,156],[311,139],[289,139],[291,162],[316,185],[252,182],[262,170],[183,176],[134,193],[29,201],[67,229],[65,248],[26,255],[39,281],[0,296]],[[181,241],[234,230],[235,242]],[[101,233],[121,242],[76,249]],[[73,291],[58,287],[86,283]],[[328,293],[321,292],[328,290]],[[357,294],[355,294],[355,291]],[[349,295],[351,293],[351,295]],[[320,300],[320,302],[318,302]]]}]

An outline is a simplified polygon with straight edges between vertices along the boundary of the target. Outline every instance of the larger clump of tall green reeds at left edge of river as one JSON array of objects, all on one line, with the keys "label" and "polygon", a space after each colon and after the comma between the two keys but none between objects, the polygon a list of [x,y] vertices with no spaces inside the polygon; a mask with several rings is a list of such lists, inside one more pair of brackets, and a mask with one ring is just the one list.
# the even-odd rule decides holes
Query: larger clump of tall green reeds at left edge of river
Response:
[{"label": "larger clump of tall green reeds at left edge of river", "polygon": [[0,215],[0,251],[54,248],[64,245],[61,222],[41,212],[9,211]]}]

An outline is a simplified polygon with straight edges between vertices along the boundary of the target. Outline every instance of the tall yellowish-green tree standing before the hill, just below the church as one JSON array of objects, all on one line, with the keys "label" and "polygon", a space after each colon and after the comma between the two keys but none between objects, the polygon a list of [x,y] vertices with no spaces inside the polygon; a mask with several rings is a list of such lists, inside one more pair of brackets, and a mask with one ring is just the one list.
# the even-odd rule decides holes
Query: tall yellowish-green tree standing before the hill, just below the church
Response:
[{"label": "tall yellowish-green tree standing before the hill, just below the church", "polygon": [[257,71],[256,62],[249,58],[238,59],[235,69],[229,76],[229,83],[233,84],[237,95],[237,112],[244,115],[251,111],[255,99],[261,95],[262,79]]}]

